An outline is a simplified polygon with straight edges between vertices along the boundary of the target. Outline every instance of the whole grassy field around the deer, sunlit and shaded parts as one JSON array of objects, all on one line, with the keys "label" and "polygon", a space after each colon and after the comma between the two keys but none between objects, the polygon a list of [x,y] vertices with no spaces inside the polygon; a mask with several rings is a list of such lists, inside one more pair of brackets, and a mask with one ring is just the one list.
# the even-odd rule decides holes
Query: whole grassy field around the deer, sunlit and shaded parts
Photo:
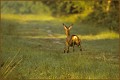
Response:
[{"label": "whole grassy field around the deer, sunlit and shaded parts", "polygon": [[[75,52],[70,48],[70,53],[63,53],[66,35],[62,23],[71,24],[51,16],[2,14],[2,75],[8,79],[119,78],[118,33],[74,23],[71,34],[81,38],[83,51],[75,47]],[[6,71],[13,58],[20,63]]]}]

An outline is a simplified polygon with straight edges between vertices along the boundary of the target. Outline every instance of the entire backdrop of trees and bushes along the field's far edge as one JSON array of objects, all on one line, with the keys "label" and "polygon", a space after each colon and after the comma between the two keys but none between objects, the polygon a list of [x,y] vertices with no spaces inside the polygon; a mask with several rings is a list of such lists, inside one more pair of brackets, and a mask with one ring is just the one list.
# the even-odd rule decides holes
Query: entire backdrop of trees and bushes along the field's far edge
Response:
[{"label": "entire backdrop of trees and bushes along the field's far edge", "polygon": [[[2,1],[1,13],[39,14],[54,17],[72,14],[88,14],[86,18],[78,17],[78,21],[105,26],[118,31],[119,1],[117,0],[81,0],[81,1]],[[94,23],[93,23],[94,22]]]}]

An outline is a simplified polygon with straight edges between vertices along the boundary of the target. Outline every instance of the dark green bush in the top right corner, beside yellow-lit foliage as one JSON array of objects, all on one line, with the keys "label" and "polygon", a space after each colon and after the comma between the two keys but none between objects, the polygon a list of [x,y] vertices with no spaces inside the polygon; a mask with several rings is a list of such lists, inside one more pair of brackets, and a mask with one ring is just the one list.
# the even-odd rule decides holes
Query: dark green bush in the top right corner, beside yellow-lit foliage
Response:
[{"label": "dark green bush in the top right corner, beside yellow-lit foliage", "polygon": [[[112,1],[110,10],[106,10],[105,1],[98,1],[94,4],[93,12],[88,15],[83,22],[92,23],[95,26],[105,26],[110,30],[119,31],[119,2]],[[94,23],[93,23],[94,22]]]}]

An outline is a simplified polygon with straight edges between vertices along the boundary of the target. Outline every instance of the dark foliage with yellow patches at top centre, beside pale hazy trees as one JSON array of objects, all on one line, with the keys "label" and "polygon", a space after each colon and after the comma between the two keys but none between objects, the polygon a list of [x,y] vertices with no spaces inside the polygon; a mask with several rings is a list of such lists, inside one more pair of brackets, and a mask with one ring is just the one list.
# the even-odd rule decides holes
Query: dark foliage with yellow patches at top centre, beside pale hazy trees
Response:
[{"label": "dark foliage with yellow patches at top centre, beside pale hazy trees", "polygon": [[87,10],[92,4],[93,1],[42,1],[44,4],[49,6],[52,10],[52,13],[55,15],[68,15],[82,13]]}]

